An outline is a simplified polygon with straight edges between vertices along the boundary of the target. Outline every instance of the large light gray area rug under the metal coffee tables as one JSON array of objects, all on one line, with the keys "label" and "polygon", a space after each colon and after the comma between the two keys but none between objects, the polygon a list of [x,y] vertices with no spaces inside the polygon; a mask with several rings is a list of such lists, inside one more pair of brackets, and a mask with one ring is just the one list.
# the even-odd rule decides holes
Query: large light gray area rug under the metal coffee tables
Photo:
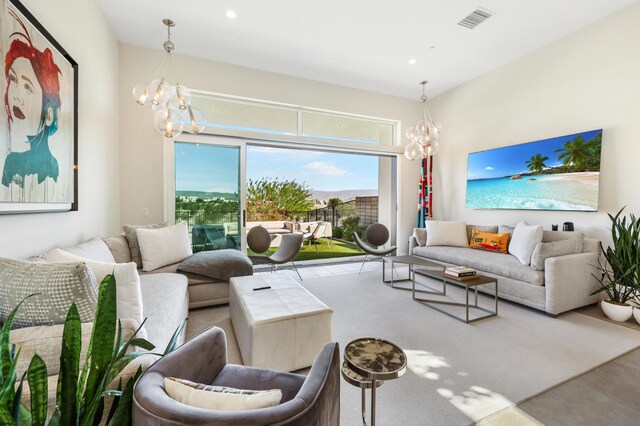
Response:
[{"label": "large light gray area rug under the metal coffee tables", "polygon": [[[407,372],[379,388],[380,425],[477,422],[640,346],[636,330],[573,312],[551,318],[505,301],[498,317],[467,325],[386,286],[380,271],[305,278],[302,285],[334,310],[341,350],[370,336],[408,354]],[[454,299],[463,294],[448,289]],[[360,389],[343,381],[341,424],[361,423]]]}]

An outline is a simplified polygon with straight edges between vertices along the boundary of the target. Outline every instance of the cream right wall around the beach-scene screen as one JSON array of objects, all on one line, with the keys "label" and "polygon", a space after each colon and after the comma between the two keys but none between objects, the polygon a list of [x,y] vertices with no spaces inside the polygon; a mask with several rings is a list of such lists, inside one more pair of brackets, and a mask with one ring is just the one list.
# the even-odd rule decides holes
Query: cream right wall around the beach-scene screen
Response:
[{"label": "cream right wall around the beach-scene screen", "polygon": [[[640,213],[640,4],[436,97],[442,121],[437,218],[474,224],[572,221],[607,239],[605,212]],[[603,128],[600,211],[465,208],[467,153]]]}]

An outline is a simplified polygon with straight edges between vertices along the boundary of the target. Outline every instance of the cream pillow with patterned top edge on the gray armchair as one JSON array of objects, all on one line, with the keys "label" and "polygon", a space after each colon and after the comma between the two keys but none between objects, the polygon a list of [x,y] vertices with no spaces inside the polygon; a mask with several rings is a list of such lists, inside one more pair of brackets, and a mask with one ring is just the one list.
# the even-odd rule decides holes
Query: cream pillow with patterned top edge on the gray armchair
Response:
[{"label": "cream pillow with patterned top edge on the gray armchair", "polygon": [[191,407],[221,411],[244,411],[274,407],[282,400],[280,389],[244,390],[203,385],[165,377],[164,390],[170,398]]}]

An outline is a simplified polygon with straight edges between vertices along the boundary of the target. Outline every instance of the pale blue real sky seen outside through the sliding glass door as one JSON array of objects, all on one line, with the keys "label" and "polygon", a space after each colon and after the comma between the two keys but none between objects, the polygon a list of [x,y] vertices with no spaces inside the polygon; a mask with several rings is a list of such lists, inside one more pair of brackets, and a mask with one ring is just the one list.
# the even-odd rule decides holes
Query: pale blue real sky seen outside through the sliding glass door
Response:
[{"label": "pale blue real sky seen outside through the sliding glass door", "polygon": [[[238,192],[240,148],[175,144],[176,190]],[[247,180],[279,178],[318,191],[378,188],[378,157],[247,146]]]}]

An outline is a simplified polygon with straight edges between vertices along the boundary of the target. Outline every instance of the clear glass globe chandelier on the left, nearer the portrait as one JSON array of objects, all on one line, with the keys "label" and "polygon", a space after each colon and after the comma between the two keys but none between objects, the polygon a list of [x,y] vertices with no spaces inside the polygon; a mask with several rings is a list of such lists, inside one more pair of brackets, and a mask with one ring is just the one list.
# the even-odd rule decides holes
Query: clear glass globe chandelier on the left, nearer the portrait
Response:
[{"label": "clear glass globe chandelier on the left, nearer the portrait", "polygon": [[[141,106],[151,105],[153,126],[162,136],[173,138],[183,131],[200,133],[205,128],[204,114],[191,106],[191,91],[178,83],[171,63],[171,53],[175,46],[171,42],[171,28],[175,23],[163,19],[167,26],[167,41],[162,44],[166,55],[156,71],[156,78],[149,84],[139,84],[133,88],[133,98]],[[170,84],[171,76],[175,84]]]}]

